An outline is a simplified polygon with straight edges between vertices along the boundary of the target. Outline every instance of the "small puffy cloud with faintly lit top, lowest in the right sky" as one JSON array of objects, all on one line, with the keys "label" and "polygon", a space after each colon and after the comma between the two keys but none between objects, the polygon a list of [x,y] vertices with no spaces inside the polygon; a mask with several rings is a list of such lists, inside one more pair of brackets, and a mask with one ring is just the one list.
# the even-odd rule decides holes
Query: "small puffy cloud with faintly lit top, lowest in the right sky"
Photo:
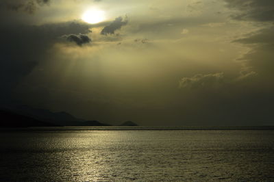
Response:
[{"label": "small puffy cloud with faintly lit top, lowest in the right sky", "polygon": [[184,77],[179,81],[179,88],[216,88],[223,82],[223,73],[208,75],[197,74],[193,77]]}]

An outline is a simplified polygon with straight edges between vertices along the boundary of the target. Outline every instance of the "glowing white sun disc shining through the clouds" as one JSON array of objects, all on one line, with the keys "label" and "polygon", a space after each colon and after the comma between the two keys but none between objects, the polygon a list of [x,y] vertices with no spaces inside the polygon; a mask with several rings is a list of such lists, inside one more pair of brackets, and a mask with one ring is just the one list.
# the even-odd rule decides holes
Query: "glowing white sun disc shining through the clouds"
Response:
[{"label": "glowing white sun disc shining through the clouds", "polygon": [[82,16],[82,20],[86,21],[86,23],[100,23],[105,20],[105,12],[97,9],[90,9],[84,12]]}]

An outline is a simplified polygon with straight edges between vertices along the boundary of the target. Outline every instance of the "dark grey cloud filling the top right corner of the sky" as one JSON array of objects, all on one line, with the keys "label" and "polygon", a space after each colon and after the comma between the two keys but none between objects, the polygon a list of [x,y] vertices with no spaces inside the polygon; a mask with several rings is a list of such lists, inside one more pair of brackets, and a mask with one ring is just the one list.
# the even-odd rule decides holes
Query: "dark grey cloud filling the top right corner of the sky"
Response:
[{"label": "dark grey cloud filling the top right corner of the sky", "polygon": [[232,18],[242,21],[274,21],[274,1],[272,0],[225,0],[227,7],[240,10]]}]

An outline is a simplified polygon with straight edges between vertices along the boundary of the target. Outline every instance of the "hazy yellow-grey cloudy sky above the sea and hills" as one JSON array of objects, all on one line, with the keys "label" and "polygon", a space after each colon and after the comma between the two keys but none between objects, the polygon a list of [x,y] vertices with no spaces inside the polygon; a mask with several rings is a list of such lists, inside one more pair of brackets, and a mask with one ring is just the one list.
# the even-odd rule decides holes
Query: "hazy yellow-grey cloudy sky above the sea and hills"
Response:
[{"label": "hazy yellow-grey cloudy sky above the sea and hills", "polygon": [[112,125],[274,125],[273,0],[1,0],[0,20],[1,105]]}]

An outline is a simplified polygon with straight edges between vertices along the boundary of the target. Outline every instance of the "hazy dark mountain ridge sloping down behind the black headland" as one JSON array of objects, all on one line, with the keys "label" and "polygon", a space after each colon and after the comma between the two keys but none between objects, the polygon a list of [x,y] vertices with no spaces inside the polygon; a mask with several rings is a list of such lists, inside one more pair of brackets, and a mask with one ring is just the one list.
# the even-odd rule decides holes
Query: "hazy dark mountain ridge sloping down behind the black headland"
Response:
[{"label": "hazy dark mountain ridge sloping down behind the black headland", "polygon": [[48,109],[37,109],[28,105],[18,105],[8,107],[5,110],[14,112],[21,116],[26,116],[35,120],[51,122],[59,126],[110,126],[96,120],[83,120],[66,112],[51,112]]}]

